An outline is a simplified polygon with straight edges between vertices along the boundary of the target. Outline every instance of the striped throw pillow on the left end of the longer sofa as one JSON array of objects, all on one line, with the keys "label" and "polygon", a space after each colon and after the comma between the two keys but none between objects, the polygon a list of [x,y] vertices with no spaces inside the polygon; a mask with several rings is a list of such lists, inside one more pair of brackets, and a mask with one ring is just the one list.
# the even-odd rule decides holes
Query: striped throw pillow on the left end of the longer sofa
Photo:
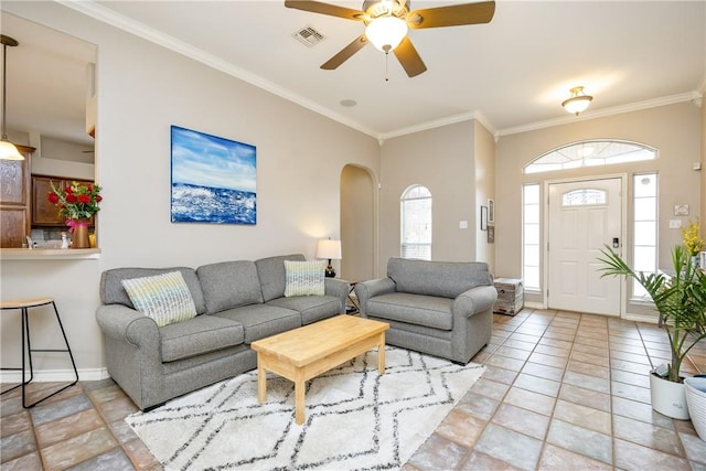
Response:
[{"label": "striped throw pillow on the left end of the longer sofa", "polygon": [[122,280],[135,309],[164,327],[196,317],[196,307],[184,277],[172,271]]}]

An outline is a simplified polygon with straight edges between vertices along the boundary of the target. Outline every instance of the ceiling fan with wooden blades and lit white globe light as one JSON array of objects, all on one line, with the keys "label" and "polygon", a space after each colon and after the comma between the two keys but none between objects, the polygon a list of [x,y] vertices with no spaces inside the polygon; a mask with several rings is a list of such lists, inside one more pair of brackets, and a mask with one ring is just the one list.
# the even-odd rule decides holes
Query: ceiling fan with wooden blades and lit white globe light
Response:
[{"label": "ceiling fan with wooden blades and lit white globe light", "polygon": [[321,68],[331,71],[339,67],[371,42],[385,54],[393,51],[409,77],[424,73],[427,66],[407,36],[408,28],[419,30],[489,23],[495,13],[494,1],[413,11],[409,11],[409,3],[408,0],[365,0],[363,10],[353,10],[319,1],[286,0],[285,7],[361,21],[365,24],[365,32],[321,65]]}]

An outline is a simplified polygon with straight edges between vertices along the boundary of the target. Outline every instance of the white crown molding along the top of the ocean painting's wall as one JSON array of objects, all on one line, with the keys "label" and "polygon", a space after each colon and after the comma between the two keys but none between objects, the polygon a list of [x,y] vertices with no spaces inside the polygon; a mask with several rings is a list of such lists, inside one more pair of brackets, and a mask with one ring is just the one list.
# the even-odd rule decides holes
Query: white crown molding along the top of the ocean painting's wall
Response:
[{"label": "white crown molding along the top of the ocean painting's wall", "polygon": [[379,132],[361,125],[360,122],[347,119],[346,117],[339,115],[336,113],[331,111],[328,108],[324,108],[307,98],[297,95],[281,86],[266,81],[259,75],[253,74],[244,68],[237,67],[213,54],[210,54],[199,47],[194,47],[191,44],[188,44],[183,41],[180,41],[169,34],[164,34],[161,31],[154,30],[146,24],[142,24],[138,21],[135,21],[128,17],[116,13],[115,11],[105,8],[93,0],[55,0],[56,2],[71,8],[73,10],[78,11],[87,17],[94,18],[104,23],[110,24],[120,30],[127,31],[136,36],[142,38],[147,41],[150,41],[154,44],[159,44],[163,47],[167,47],[171,51],[174,51],[179,54],[182,54],[186,57],[190,57],[194,61],[201,62],[216,71],[221,71],[225,74],[228,74],[233,77],[239,78],[243,82],[246,82],[256,87],[263,88],[274,95],[277,95],[281,98],[285,98],[289,101],[292,101],[297,105],[300,105],[304,108],[308,108],[319,115],[325,116],[334,121],[341,122],[352,129],[361,131],[365,135],[368,135],[373,138],[379,139]]}]

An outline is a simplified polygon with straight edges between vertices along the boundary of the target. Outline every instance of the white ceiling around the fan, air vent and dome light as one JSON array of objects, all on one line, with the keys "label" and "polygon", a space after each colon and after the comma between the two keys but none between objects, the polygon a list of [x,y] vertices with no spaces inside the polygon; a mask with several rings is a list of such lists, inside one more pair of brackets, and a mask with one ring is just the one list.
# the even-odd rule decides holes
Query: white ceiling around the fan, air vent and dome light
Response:
[{"label": "white ceiling around the fan, air vent and dome light", "polygon": [[[363,1],[330,3],[357,10]],[[457,3],[467,1],[413,1],[411,9]],[[706,1],[501,0],[489,24],[410,30],[428,67],[415,78],[407,77],[393,55],[386,64],[385,55],[372,45],[335,71],[319,68],[362,34],[364,25],[288,9],[279,0],[64,4],[379,139],[469,118],[506,135],[696,99],[706,87]],[[86,55],[95,56],[95,49],[65,36],[67,43],[78,43],[75,56],[68,49],[76,44],[55,47],[56,41],[36,44],[33,51],[42,34],[18,26],[23,20],[4,17],[3,34],[17,31],[21,43],[8,54],[8,127],[20,119],[11,94],[24,97],[22,107],[41,109],[36,119],[47,118],[50,110],[68,110],[46,96],[58,88],[54,99],[67,98],[66,86],[45,90],[36,107],[36,96],[21,88],[30,86],[28,77],[54,82],[61,76],[60,62],[75,68],[76,62],[88,60]],[[308,26],[324,36],[312,47],[293,38]],[[31,54],[42,54],[41,61],[18,66]],[[50,64],[49,71],[33,68]],[[11,72],[18,74],[15,79]],[[84,98],[85,76],[83,65],[78,89]],[[577,85],[593,96],[578,118],[560,107]],[[356,105],[343,106],[343,100]]]}]

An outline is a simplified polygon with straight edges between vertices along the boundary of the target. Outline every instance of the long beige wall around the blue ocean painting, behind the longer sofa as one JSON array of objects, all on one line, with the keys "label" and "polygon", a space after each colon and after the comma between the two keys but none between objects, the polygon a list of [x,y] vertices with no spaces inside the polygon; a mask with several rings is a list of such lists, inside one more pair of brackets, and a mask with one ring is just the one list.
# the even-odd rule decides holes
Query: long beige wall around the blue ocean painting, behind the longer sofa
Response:
[{"label": "long beige wall around the blue ocean painting, behind the longer sofa", "polygon": [[[3,14],[9,11],[75,35],[98,50],[101,257],[3,260],[0,288],[2,299],[53,296],[84,372],[105,366],[94,317],[103,270],[197,267],[285,253],[313,258],[320,237],[339,236],[344,165],[378,171],[377,140],[263,89],[54,2],[4,1],[2,9]],[[257,147],[257,225],[170,222],[171,125]],[[19,363],[19,330],[9,318],[2,315],[3,366],[6,361]],[[36,328],[41,332],[44,325]],[[38,336],[38,345],[41,340]],[[65,362],[40,361],[35,366],[63,368]]]}]

